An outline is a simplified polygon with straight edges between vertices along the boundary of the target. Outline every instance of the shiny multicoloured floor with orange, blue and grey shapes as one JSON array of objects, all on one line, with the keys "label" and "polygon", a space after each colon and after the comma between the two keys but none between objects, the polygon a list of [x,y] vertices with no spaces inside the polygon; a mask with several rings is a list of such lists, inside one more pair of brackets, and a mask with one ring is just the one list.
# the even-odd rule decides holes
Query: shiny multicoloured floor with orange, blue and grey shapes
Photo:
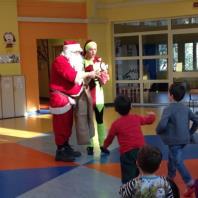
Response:
[{"label": "shiny multicoloured floor with orange, blue and grey shapes", "polygon": [[[162,110],[163,107],[133,108],[135,113],[157,114],[156,122],[142,129],[146,141],[161,148],[164,160],[158,173],[166,175],[167,148],[155,135]],[[116,117],[113,108],[106,108],[107,129]],[[77,145],[75,133],[71,144],[82,156],[74,163],[56,162],[51,115],[0,120],[0,197],[118,198],[121,182],[117,141],[110,147],[110,156],[100,155],[97,143],[94,156],[87,156],[86,146]],[[186,146],[184,156],[191,174],[198,178],[198,145]],[[176,183],[183,192],[185,186],[179,175]]]}]

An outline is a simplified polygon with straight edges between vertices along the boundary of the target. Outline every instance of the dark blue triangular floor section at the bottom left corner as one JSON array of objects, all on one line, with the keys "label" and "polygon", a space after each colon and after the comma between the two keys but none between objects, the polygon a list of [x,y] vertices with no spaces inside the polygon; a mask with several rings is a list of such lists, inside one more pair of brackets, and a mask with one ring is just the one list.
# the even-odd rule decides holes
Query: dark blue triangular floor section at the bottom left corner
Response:
[{"label": "dark blue triangular floor section at the bottom left corner", "polygon": [[0,197],[12,198],[75,167],[54,167],[0,171]]}]

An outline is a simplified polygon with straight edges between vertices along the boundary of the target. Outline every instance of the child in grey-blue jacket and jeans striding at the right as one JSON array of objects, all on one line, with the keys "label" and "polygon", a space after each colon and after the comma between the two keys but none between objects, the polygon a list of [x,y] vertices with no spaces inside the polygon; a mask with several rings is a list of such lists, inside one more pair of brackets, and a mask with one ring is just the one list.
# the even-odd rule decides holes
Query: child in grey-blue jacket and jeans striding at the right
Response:
[{"label": "child in grey-blue jacket and jeans striding at the right", "polygon": [[184,95],[185,87],[182,84],[174,83],[170,86],[171,103],[164,109],[156,131],[168,145],[168,177],[174,179],[178,170],[187,186],[184,196],[190,196],[194,192],[194,180],[183,163],[182,153],[183,148],[190,141],[190,133],[193,133],[192,129],[189,129],[190,121],[193,122],[193,126],[196,126],[198,116],[181,103]]}]

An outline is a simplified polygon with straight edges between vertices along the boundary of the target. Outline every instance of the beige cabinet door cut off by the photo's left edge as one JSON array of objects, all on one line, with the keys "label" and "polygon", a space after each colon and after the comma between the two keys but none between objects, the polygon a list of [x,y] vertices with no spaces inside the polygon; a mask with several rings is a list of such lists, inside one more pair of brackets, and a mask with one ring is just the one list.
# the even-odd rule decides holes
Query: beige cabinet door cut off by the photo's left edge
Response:
[{"label": "beige cabinet door cut off by the photo's left edge", "polygon": [[12,76],[1,77],[2,114],[3,118],[14,117],[14,94]]}]

